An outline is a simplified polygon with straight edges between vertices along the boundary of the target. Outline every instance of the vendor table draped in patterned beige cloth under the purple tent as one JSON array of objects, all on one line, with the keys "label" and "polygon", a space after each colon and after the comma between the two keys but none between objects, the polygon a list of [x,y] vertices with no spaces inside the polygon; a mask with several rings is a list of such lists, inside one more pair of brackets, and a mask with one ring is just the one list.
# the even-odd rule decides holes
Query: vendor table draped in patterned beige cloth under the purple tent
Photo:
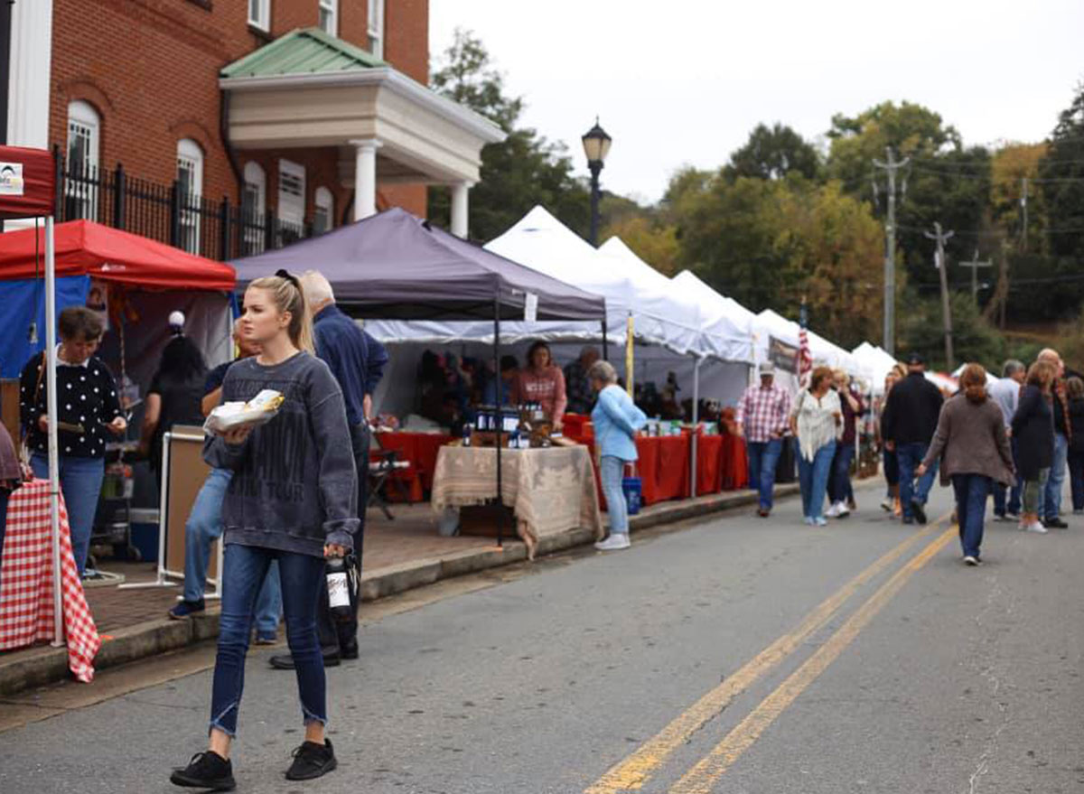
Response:
[{"label": "vendor table draped in patterned beige cloth under the purple tent", "polygon": [[[586,447],[501,451],[502,501],[516,512],[516,532],[533,558],[539,540],[589,527],[603,537],[598,492]],[[433,509],[485,504],[496,497],[496,449],[441,447]]]}]

